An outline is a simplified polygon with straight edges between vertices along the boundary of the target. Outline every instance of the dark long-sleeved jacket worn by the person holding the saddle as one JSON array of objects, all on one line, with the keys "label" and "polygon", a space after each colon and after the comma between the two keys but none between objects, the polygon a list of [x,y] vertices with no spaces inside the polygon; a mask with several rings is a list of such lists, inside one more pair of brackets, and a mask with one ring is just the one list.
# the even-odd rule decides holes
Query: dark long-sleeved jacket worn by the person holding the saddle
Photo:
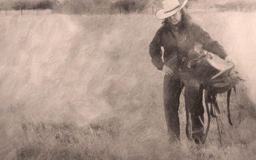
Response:
[{"label": "dark long-sleeved jacket worn by the person holding the saddle", "polygon": [[222,59],[227,56],[224,48],[197,24],[190,23],[186,27],[180,27],[167,23],[157,30],[149,45],[152,63],[158,70],[163,69],[161,47],[164,47],[164,61],[166,62],[174,54],[179,54],[181,51],[189,52],[196,43],[202,44],[204,50],[216,54]]}]

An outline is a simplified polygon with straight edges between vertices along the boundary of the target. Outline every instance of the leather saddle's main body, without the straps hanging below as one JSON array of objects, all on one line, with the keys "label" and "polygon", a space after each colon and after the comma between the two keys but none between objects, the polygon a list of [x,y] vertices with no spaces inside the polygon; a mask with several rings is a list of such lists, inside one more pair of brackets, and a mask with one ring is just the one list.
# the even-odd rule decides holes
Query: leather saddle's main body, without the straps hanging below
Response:
[{"label": "leather saddle's main body, without the straps hanging below", "polygon": [[228,92],[239,81],[244,81],[243,75],[235,70],[234,65],[227,64],[217,55],[204,50],[193,54],[178,60],[183,80],[195,79],[212,95]]}]

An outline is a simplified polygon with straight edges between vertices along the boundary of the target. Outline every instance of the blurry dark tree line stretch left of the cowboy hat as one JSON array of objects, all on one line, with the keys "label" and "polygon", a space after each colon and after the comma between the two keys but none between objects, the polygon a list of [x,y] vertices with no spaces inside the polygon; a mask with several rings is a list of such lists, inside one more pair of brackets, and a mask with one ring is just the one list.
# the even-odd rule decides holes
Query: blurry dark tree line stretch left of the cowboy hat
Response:
[{"label": "blurry dark tree line stretch left of the cowboy hat", "polygon": [[111,14],[142,12],[148,4],[148,0],[4,0],[0,1],[0,10],[52,9],[71,14]]}]

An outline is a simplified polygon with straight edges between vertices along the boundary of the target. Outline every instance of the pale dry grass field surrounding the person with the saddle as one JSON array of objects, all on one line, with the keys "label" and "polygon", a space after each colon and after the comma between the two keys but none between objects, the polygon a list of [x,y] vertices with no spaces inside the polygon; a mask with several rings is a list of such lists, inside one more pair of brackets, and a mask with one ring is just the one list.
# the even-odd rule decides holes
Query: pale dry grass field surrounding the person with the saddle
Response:
[{"label": "pale dry grass field surrounding the person with the saddle", "polygon": [[[17,11],[18,12],[18,11]],[[167,144],[163,74],[148,45],[161,26],[150,14],[0,15],[1,159],[255,159],[256,13],[192,12],[248,80],[231,98],[238,128],[222,108],[206,143]],[[233,119],[236,117],[233,117]],[[234,121],[236,122],[236,121]]]}]

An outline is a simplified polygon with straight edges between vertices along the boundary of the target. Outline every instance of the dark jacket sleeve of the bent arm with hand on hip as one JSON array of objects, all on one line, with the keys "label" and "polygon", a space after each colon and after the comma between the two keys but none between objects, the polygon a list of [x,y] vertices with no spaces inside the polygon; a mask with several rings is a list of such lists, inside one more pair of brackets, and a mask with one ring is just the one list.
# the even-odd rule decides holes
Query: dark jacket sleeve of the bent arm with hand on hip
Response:
[{"label": "dark jacket sleeve of the bent arm with hand on hip", "polygon": [[164,62],[162,60],[162,50],[161,50],[161,28],[156,32],[155,37],[149,45],[149,55],[151,56],[151,61],[153,65],[158,69],[162,70]]}]

